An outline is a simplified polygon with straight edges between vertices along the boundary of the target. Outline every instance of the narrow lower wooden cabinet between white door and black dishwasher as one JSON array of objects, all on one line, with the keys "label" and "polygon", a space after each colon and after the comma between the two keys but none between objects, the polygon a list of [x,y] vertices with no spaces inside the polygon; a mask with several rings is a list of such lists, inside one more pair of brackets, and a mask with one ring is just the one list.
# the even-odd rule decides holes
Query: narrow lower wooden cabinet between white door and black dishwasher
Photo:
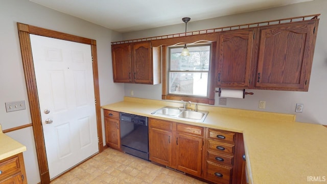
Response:
[{"label": "narrow lower wooden cabinet between white door and black dishwasher", "polygon": [[110,148],[121,149],[121,131],[119,112],[104,110],[104,126],[106,134],[106,145]]}]

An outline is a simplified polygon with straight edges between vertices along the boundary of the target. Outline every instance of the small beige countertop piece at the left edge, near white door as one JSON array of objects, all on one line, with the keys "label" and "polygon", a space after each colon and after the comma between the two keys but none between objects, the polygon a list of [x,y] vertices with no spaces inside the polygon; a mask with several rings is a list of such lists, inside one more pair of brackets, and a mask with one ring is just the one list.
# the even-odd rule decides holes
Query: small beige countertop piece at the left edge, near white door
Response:
[{"label": "small beige countertop piece at the left edge, near white door", "polygon": [[2,132],[0,125],[0,160],[13,156],[15,154],[26,151],[26,146],[13,140]]}]

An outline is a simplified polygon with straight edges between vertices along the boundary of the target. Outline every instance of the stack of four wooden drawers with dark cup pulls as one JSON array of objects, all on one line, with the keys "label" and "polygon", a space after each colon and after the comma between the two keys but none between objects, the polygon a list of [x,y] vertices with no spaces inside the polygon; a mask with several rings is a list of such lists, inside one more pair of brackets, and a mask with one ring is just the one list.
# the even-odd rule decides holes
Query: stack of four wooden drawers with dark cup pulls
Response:
[{"label": "stack of four wooden drawers with dark cup pulls", "polygon": [[206,128],[204,179],[222,184],[243,180],[242,133]]}]

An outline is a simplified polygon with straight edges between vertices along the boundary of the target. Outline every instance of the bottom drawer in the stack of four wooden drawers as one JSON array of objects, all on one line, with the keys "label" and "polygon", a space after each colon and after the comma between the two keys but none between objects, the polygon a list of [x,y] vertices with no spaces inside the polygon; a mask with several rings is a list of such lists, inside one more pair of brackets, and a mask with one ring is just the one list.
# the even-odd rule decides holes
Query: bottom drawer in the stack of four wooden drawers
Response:
[{"label": "bottom drawer in the stack of four wooden drawers", "polygon": [[231,183],[232,167],[223,166],[207,161],[205,179],[215,183]]}]

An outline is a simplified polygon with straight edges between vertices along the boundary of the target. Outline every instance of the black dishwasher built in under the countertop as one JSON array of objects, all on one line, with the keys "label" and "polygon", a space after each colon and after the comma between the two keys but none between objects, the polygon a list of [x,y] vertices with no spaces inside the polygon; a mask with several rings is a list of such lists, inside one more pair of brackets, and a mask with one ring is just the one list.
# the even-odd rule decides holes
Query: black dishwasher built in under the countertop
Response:
[{"label": "black dishwasher built in under the countertop", "polygon": [[119,113],[121,124],[121,149],[131,155],[149,160],[148,118]]}]

